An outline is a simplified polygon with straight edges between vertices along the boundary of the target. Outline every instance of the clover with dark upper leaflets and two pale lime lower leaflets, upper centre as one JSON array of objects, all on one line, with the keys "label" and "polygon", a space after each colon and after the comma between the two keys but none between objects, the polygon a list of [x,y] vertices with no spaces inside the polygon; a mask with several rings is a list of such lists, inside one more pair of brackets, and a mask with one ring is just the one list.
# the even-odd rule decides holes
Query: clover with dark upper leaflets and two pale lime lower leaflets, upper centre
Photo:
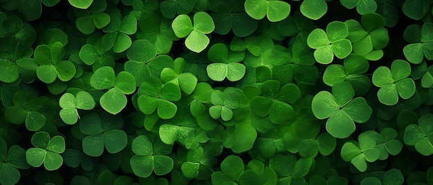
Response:
[{"label": "clover with dark upper leaflets and two pale lime lower leaflets, upper centre", "polygon": [[239,64],[245,57],[245,52],[229,51],[223,43],[216,43],[210,47],[208,58],[213,61],[206,70],[208,76],[214,81],[239,81],[245,75],[246,67]]}]

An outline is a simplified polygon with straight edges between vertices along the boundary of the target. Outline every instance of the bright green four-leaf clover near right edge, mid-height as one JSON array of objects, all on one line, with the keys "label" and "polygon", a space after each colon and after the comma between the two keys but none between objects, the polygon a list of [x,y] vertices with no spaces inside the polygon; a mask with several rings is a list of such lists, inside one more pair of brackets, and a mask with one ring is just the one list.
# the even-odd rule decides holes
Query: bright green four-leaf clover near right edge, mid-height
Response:
[{"label": "bright green four-leaf clover near right edge, mid-height", "polygon": [[416,89],[414,80],[408,78],[410,73],[410,64],[400,59],[392,62],[391,70],[386,66],[376,68],[372,81],[380,88],[377,93],[380,103],[393,106],[397,104],[398,97],[412,97]]}]

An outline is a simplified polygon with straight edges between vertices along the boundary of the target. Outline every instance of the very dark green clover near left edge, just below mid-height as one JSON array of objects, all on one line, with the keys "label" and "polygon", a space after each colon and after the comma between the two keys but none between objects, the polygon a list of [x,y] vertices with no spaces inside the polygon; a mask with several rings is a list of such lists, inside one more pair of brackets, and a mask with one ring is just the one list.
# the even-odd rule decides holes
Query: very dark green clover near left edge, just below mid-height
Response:
[{"label": "very dark green clover near left edge, just below mid-height", "polygon": [[44,106],[46,97],[39,95],[32,90],[21,90],[13,96],[15,106],[10,106],[5,110],[5,117],[12,124],[22,124],[25,122],[26,128],[37,131],[46,124]]}]

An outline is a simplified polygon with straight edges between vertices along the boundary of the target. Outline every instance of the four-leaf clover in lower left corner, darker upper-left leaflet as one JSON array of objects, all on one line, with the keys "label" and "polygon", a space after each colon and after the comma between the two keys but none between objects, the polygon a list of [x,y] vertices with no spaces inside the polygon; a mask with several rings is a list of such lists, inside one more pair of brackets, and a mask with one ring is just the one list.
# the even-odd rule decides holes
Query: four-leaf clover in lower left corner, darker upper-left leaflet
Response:
[{"label": "four-leaf clover in lower left corner, darker upper-left leaflet", "polygon": [[55,171],[63,164],[60,153],[65,150],[64,137],[56,135],[50,138],[46,132],[33,134],[31,142],[36,148],[28,148],[26,160],[30,166],[39,167],[44,164],[48,171]]}]

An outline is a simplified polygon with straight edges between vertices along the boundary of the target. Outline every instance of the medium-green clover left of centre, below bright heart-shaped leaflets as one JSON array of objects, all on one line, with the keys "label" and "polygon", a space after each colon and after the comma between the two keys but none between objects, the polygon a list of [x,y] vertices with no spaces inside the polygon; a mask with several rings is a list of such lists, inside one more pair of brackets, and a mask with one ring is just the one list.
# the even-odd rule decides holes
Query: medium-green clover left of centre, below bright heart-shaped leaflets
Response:
[{"label": "medium-green clover left of centre, below bright heart-shaped leaflets", "polygon": [[138,90],[138,108],[150,115],[155,112],[161,119],[176,115],[177,106],[172,101],[181,99],[181,88],[174,82],[161,83],[159,79],[149,79]]}]

